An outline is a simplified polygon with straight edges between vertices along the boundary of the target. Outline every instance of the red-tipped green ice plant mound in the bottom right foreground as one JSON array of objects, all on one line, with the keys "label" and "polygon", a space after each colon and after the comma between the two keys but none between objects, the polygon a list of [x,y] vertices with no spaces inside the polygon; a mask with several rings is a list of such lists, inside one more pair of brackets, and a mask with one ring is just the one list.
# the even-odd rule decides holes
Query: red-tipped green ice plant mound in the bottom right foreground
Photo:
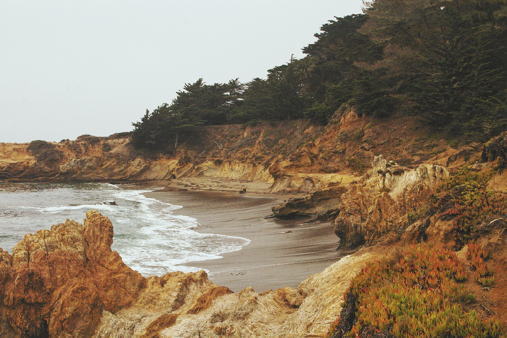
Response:
[{"label": "red-tipped green ice plant mound in the bottom right foreground", "polygon": [[[472,255],[486,257],[487,251],[472,247]],[[456,254],[442,245],[418,244],[400,258],[367,266],[350,283],[345,303],[354,302],[350,337],[504,337],[503,324],[487,319],[464,305],[475,295],[466,290],[465,267]],[[345,307],[346,305],[344,305]],[[338,321],[329,337],[337,337]]]}]

